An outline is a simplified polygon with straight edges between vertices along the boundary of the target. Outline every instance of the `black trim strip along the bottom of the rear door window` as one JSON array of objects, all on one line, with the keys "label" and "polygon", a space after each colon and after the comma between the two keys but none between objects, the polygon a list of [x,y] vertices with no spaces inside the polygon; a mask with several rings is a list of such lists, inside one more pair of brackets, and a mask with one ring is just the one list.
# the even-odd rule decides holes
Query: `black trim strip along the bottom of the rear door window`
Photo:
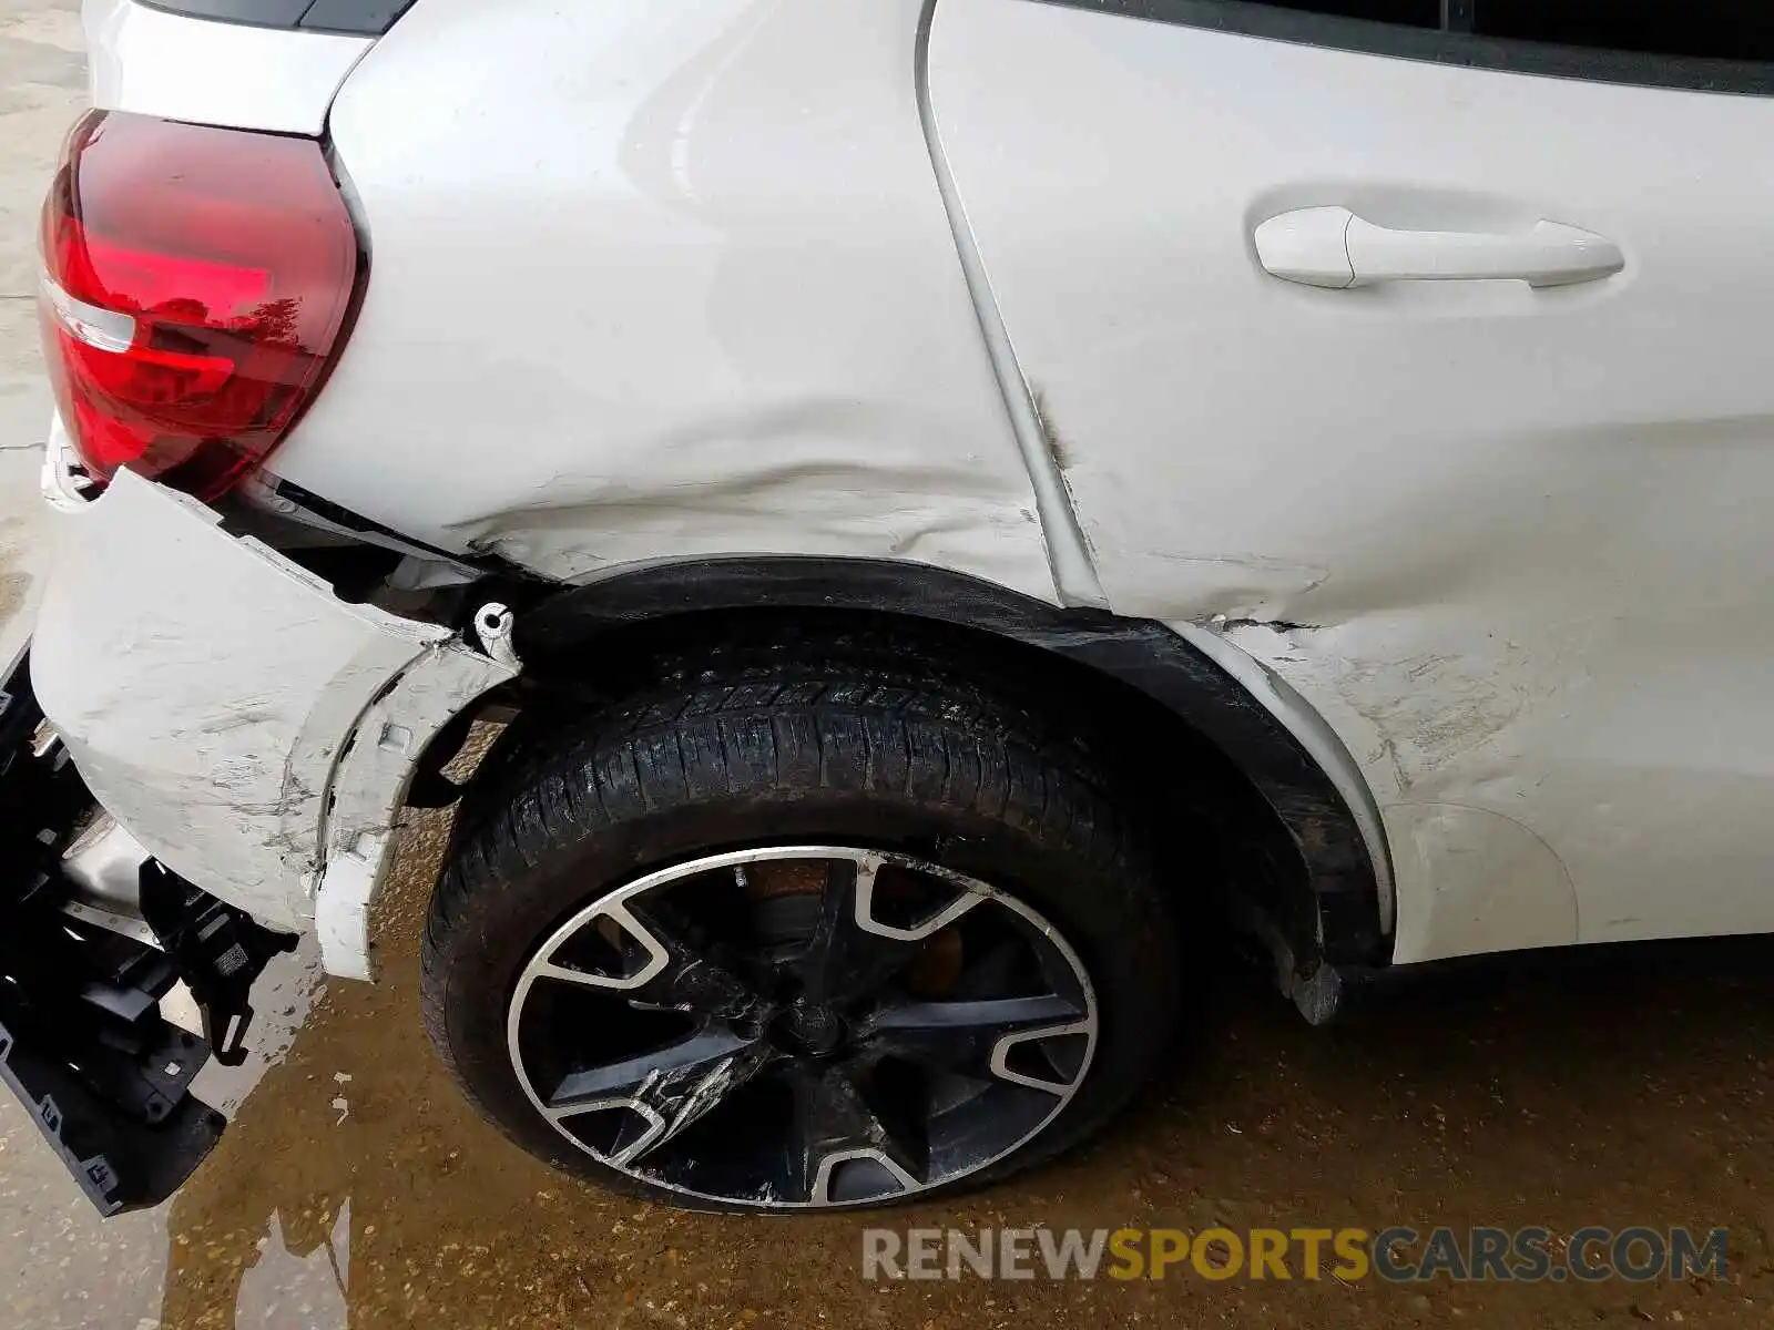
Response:
[{"label": "black trim strip along the bottom of the rear door window", "polygon": [[[1032,0],[1032,4],[1469,69],[1499,69],[1515,74],[1545,74],[1590,83],[1630,83],[1687,92],[1774,96],[1774,62],[1487,37],[1446,28],[1343,18],[1341,14],[1315,14],[1260,0]],[[1442,7],[1442,12],[1448,12],[1448,5]]]}]

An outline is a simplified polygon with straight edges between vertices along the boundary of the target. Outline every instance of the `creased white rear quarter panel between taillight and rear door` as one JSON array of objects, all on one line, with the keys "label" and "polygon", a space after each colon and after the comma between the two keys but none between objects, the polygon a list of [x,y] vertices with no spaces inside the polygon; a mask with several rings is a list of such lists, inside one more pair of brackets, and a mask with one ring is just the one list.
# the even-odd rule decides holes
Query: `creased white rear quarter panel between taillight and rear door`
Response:
[{"label": "creased white rear quarter panel between taillight and rear door", "polygon": [[798,553],[1054,599],[921,11],[419,4],[332,108],[374,277],[273,470],[569,582]]}]

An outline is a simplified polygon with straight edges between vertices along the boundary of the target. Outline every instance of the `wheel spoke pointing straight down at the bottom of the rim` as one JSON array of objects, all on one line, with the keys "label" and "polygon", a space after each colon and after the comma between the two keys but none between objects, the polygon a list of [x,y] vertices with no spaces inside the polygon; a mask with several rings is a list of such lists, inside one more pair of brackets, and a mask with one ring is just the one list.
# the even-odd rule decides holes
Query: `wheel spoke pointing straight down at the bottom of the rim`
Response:
[{"label": "wheel spoke pointing straight down at the bottom of the rim", "polygon": [[855,1162],[885,1179],[880,1195],[924,1185],[930,1151],[922,1128],[871,1101],[866,1060],[795,1062],[786,1076],[795,1099],[789,1165],[797,1195],[816,1206],[855,1199],[834,1195],[839,1169]]}]

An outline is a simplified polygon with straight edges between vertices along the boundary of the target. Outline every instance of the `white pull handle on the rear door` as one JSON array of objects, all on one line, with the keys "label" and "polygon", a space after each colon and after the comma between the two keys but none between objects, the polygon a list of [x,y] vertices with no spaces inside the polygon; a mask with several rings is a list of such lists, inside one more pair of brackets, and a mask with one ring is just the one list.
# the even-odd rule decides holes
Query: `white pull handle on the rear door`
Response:
[{"label": "white pull handle on the rear door", "polygon": [[1568,286],[1627,266],[1593,231],[1535,222],[1527,231],[1393,231],[1346,207],[1300,207],[1256,229],[1256,255],[1286,282],[1343,291],[1375,282]]}]

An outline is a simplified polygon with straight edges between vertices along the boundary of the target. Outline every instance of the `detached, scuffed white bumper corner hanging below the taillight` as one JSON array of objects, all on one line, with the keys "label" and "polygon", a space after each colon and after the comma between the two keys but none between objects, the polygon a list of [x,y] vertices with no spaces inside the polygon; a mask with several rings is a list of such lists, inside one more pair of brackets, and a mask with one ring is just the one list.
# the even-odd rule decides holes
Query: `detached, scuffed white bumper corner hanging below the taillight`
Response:
[{"label": "detached, scuffed white bumper corner hanging below the taillight", "polygon": [[413,766],[513,677],[447,628],[348,605],[216,512],[119,472],[67,511],[32,683],[156,858],[369,979],[367,910]]}]

